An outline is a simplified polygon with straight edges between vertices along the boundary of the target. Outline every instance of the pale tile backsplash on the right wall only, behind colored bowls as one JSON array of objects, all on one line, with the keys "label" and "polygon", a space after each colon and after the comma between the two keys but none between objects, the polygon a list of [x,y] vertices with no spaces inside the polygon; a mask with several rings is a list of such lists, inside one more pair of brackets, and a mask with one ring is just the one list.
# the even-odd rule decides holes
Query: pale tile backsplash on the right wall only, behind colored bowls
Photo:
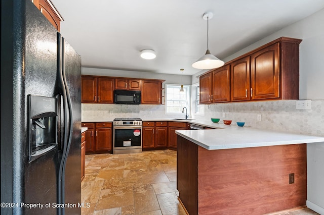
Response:
[{"label": "pale tile backsplash on the right wall only, behind colored bowls", "polygon": [[[324,100],[313,100],[311,107],[297,110],[296,100],[217,103],[205,105],[205,116],[194,118],[221,118],[246,122],[245,126],[253,128],[324,136]],[[261,121],[257,120],[258,115]]]}]

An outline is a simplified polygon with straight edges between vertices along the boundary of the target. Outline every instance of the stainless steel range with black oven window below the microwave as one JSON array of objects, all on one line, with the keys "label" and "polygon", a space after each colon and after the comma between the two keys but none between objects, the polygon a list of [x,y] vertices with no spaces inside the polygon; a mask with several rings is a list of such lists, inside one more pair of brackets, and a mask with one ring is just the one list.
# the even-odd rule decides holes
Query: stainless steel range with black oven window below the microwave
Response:
[{"label": "stainless steel range with black oven window below the microwave", "polygon": [[116,118],[113,120],[112,153],[142,152],[142,120],[140,118]]}]

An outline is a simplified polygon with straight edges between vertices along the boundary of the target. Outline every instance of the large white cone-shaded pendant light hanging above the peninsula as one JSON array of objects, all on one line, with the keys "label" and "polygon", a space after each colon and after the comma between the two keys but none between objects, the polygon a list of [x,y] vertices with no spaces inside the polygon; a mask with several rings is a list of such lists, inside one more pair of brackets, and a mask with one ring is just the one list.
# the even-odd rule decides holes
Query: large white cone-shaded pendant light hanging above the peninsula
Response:
[{"label": "large white cone-shaded pendant light hanging above the peninsula", "polygon": [[203,19],[207,20],[207,51],[206,54],[199,58],[198,61],[194,62],[192,64],[193,68],[201,69],[201,70],[208,70],[208,69],[214,69],[218,68],[224,65],[224,62],[216,58],[214,55],[211,54],[209,48],[208,48],[208,28],[209,23],[208,21],[213,18],[213,13],[208,12],[203,15]]}]

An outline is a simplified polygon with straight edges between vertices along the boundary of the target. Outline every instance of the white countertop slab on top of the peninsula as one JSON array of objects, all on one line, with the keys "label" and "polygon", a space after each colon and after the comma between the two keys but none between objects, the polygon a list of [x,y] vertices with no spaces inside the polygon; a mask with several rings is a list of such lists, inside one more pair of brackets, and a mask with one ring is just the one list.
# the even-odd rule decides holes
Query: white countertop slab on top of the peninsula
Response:
[{"label": "white countertop slab on top of the peninsula", "polygon": [[324,142],[324,137],[292,134],[235,125],[227,129],[178,130],[176,134],[208,150]]}]

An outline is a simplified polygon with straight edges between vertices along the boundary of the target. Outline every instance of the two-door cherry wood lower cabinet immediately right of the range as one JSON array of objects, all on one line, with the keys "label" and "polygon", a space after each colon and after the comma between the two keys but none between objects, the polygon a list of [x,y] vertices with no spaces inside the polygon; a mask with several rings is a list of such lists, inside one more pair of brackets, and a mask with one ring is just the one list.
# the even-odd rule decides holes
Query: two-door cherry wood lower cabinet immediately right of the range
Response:
[{"label": "two-door cherry wood lower cabinet immediately right of the range", "polygon": [[143,148],[167,147],[167,122],[143,122]]}]

